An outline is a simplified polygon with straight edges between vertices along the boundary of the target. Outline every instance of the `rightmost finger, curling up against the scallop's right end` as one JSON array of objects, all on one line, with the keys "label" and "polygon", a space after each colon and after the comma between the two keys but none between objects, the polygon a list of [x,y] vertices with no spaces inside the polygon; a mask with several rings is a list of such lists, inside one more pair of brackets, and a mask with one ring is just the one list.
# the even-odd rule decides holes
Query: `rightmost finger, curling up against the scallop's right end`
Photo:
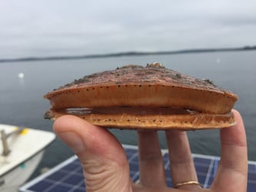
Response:
[{"label": "rightmost finger, curling up against the scallop's right end", "polygon": [[237,124],[221,129],[221,161],[212,187],[217,191],[246,191],[248,154],[244,123],[233,110]]}]

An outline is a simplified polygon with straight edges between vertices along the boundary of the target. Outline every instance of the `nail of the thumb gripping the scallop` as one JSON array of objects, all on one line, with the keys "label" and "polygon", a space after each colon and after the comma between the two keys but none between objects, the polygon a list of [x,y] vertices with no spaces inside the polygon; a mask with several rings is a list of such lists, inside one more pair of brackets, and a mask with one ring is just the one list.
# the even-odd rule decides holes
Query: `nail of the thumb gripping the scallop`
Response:
[{"label": "nail of the thumb gripping the scallop", "polygon": [[81,137],[79,137],[78,134],[75,134],[74,132],[65,132],[58,134],[58,137],[60,137],[68,147],[71,147],[75,154],[84,150],[84,143],[81,141]]}]

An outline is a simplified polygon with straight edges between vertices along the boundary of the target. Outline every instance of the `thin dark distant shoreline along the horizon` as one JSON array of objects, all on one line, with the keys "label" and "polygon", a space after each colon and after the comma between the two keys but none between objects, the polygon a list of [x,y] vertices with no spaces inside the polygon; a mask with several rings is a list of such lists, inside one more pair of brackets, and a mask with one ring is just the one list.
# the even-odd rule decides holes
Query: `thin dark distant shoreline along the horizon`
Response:
[{"label": "thin dark distant shoreline along the horizon", "polygon": [[50,56],[50,57],[26,57],[26,58],[0,58],[1,62],[17,62],[17,61],[53,61],[53,60],[74,60],[85,58],[112,58],[125,56],[141,56],[141,55],[176,55],[186,53],[206,53],[206,52],[221,52],[221,51],[253,51],[255,46],[244,46],[242,48],[196,48],[184,49],[178,51],[126,51],[110,54],[95,54],[95,55],[73,55],[73,56]]}]

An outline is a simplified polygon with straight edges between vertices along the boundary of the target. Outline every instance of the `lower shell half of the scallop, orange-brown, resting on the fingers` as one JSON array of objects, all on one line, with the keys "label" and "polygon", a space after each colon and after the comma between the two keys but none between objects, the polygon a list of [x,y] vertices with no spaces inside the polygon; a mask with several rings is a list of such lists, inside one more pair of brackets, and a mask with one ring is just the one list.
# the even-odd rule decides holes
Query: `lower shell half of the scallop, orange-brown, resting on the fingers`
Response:
[{"label": "lower shell half of the scallop, orange-brown, resting on the fingers", "polygon": [[73,114],[91,124],[120,129],[198,130],[230,127],[236,122],[233,112],[227,114],[202,114],[174,108],[70,108],[50,110],[45,118],[53,119]]}]

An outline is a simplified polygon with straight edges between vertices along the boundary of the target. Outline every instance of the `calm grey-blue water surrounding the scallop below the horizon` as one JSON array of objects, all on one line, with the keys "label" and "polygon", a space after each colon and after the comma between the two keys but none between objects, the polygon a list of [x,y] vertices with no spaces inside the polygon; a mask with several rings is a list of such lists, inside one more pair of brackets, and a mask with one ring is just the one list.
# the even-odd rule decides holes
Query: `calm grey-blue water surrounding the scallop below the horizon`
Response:
[{"label": "calm grey-blue water surrounding the scallop below the horizon", "polygon": [[[211,79],[238,94],[240,99],[234,108],[244,118],[249,159],[256,161],[256,51],[0,63],[0,123],[52,131],[52,121],[43,118],[50,106],[42,98],[45,93],[85,74],[154,61],[185,74]],[[24,78],[18,78],[19,73],[25,74]],[[111,132],[121,143],[137,144],[135,131]],[[189,131],[188,136],[193,153],[220,154],[219,131]],[[164,133],[159,131],[159,137],[165,147]],[[48,147],[40,167],[53,167],[71,155],[57,138]]]}]

